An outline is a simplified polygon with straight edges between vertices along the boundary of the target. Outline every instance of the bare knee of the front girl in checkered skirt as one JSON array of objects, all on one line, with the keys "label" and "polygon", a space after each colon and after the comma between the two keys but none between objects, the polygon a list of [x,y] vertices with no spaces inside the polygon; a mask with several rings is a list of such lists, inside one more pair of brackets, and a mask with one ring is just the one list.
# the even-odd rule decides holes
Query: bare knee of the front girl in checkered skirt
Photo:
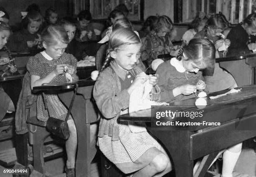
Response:
[{"label": "bare knee of the front girl in checkered skirt", "polygon": [[162,172],[169,164],[169,158],[164,154],[157,155],[151,162],[157,172]]}]

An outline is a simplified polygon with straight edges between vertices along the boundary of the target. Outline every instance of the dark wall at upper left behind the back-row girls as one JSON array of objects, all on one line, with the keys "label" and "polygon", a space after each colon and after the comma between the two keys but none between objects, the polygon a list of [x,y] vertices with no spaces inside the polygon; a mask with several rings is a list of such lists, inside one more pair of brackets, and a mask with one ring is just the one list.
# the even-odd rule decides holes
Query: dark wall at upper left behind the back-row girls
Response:
[{"label": "dark wall at upper left behind the back-row girls", "polygon": [[0,0],[0,6],[5,7],[5,10],[10,16],[10,25],[15,25],[21,20],[21,11],[25,11],[28,5],[36,3],[44,16],[45,10],[52,6],[59,14],[59,17],[72,15],[72,0]]}]

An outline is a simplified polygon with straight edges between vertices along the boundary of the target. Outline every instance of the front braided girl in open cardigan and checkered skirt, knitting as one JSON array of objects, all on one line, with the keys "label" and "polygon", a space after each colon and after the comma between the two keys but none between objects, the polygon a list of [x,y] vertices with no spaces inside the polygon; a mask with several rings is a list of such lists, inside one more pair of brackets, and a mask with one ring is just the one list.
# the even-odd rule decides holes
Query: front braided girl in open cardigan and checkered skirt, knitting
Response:
[{"label": "front braided girl in open cardigan and checkered skirt, knitting", "polygon": [[98,145],[122,172],[133,177],[163,176],[172,169],[168,155],[147,131],[131,132],[118,116],[128,111],[129,97],[138,85],[154,86],[152,99],[159,99],[157,77],[147,76],[136,65],[140,38],[130,29],[118,28],[110,35],[105,63],[97,78],[93,96],[102,113]]}]

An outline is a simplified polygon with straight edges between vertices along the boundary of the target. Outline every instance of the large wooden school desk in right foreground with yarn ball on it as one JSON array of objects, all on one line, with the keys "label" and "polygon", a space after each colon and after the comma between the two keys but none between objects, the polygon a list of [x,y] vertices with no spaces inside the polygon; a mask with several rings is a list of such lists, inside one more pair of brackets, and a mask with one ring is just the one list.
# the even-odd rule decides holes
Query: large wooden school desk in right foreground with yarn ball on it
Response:
[{"label": "large wooden school desk in right foreground with yarn ball on it", "polygon": [[[195,107],[195,98],[170,103],[169,110],[203,111],[203,117],[167,117],[166,120],[220,122],[220,126],[154,126],[161,118],[156,119],[151,111],[157,112],[161,109],[159,107],[121,115],[119,120],[146,122],[148,130],[166,147],[169,157],[174,162],[176,177],[192,177],[194,160],[203,157],[194,177],[204,177],[207,168],[220,150],[256,136],[256,85],[239,88],[242,88],[241,92],[213,100],[208,98],[207,106],[202,110]],[[227,90],[212,95],[224,92]]]}]

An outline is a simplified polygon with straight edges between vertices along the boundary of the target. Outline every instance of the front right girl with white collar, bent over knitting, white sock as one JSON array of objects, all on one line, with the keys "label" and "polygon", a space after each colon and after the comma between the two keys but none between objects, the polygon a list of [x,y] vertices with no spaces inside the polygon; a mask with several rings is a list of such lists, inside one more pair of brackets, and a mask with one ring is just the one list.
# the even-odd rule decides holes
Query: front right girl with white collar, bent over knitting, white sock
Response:
[{"label": "front right girl with white collar, bent over knitting, white sock", "polygon": [[[156,70],[162,101],[179,101],[194,96],[195,90],[205,90],[202,71],[215,65],[215,46],[205,38],[194,38],[172,58]],[[241,153],[242,143],[223,153],[222,177],[233,177],[232,172]],[[223,152],[223,151],[221,151]],[[216,160],[216,159],[215,159]]]}]

